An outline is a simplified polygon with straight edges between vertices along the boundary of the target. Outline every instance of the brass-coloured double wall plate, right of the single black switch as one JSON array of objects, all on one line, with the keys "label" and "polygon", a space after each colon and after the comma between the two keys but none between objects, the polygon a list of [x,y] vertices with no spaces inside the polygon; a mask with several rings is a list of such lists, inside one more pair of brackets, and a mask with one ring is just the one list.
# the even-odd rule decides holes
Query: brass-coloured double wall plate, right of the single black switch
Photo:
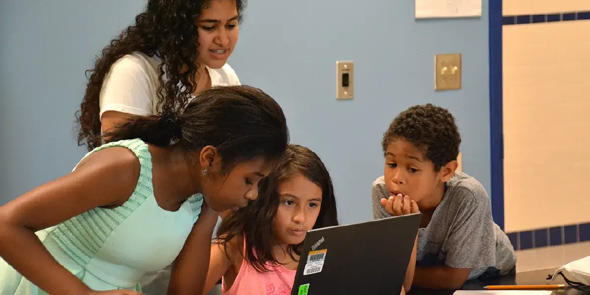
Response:
[{"label": "brass-coloured double wall plate, right of the single black switch", "polygon": [[434,56],[434,90],[461,89],[461,54]]}]

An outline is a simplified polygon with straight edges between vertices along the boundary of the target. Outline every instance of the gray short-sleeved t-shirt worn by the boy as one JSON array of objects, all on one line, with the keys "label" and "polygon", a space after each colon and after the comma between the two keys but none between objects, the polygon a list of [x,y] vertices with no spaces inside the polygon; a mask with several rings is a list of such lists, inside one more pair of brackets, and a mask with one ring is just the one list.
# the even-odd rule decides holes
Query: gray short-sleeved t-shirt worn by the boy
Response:
[{"label": "gray short-sleeved t-shirt worn by the boy", "polygon": [[[373,182],[373,219],[391,217],[381,205],[389,198],[383,176]],[[491,217],[491,202],[477,179],[455,172],[434,210],[418,231],[417,266],[471,268],[469,279],[510,273],[516,253]]]}]

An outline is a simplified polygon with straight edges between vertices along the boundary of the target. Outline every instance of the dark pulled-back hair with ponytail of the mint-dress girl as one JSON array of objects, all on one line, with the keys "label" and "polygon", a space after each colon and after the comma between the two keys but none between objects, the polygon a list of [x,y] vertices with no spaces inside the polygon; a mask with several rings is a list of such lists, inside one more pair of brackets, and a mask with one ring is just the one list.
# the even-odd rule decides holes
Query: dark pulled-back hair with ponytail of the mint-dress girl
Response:
[{"label": "dark pulled-back hair with ponytail of the mint-dress girl", "polygon": [[283,109],[268,94],[250,86],[204,90],[181,113],[132,116],[103,139],[142,139],[186,152],[212,145],[228,168],[242,160],[278,159],[289,144]]}]

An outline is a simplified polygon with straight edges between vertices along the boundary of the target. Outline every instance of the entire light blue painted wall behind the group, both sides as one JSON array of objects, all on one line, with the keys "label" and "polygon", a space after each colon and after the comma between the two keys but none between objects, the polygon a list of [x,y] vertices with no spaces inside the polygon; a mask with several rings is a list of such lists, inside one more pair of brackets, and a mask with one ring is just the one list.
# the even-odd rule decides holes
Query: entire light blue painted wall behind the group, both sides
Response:
[{"label": "entire light blue painted wall behind the group, both sides", "polygon": [[[487,1],[483,17],[416,21],[414,1],[250,1],[230,64],[283,106],[292,142],[332,173],[345,223],[371,219],[381,137],[395,115],[435,103],[457,117],[463,170],[490,189]],[[84,70],[144,1],[0,2],[0,204],[61,176]],[[463,89],[434,91],[434,54],[463,54]],[[336,60],[355,61],[355,99],[335,99]]]}]

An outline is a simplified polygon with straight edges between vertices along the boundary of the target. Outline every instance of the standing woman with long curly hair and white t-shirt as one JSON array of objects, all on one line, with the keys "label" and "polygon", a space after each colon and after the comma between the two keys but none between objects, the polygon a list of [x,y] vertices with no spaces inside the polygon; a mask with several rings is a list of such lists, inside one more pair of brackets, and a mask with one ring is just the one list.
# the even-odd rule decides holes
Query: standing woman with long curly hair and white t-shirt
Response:
[{"label": "standing woman with long curly hair and white t-shirt", "polygon": [[239,85],[226,61],[245,5],[246,0],[149,0],[88,71],[76,114],[78,145],[97,148],[101,134],[130,114],[169,113],[199,91]]}]

